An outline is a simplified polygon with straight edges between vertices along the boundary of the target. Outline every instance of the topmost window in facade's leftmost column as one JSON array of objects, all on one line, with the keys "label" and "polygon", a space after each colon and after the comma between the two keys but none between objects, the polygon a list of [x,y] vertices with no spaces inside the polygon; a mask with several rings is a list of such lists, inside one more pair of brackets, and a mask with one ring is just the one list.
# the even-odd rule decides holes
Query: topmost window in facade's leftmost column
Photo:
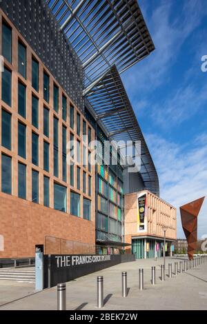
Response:
[{"label": "topmost window in facade's leftmost column", "polygon": [[12,63],[12,28],[2,23],[2,55]]}]

